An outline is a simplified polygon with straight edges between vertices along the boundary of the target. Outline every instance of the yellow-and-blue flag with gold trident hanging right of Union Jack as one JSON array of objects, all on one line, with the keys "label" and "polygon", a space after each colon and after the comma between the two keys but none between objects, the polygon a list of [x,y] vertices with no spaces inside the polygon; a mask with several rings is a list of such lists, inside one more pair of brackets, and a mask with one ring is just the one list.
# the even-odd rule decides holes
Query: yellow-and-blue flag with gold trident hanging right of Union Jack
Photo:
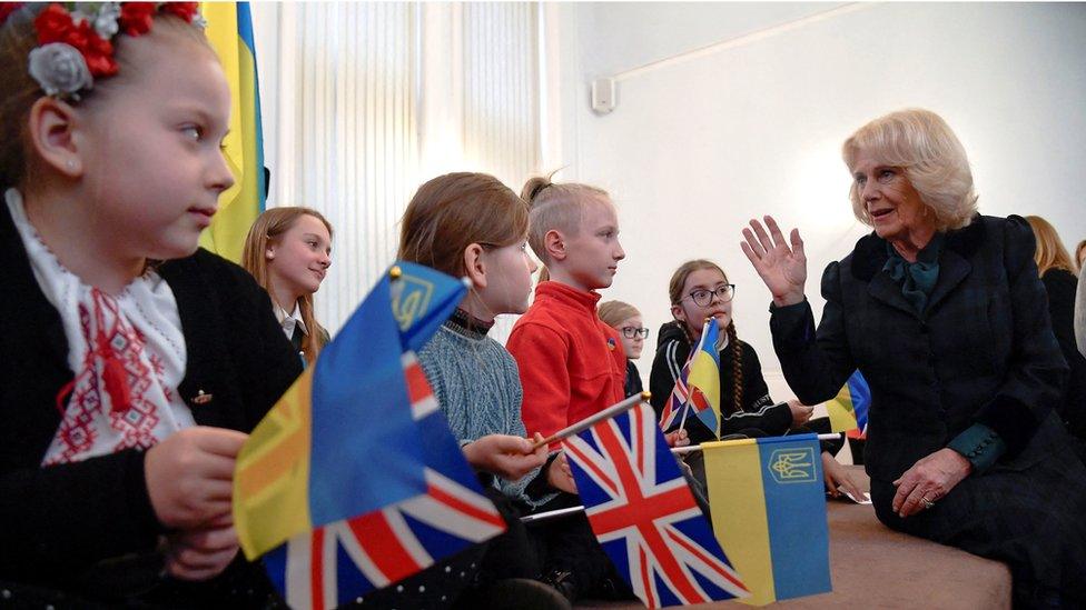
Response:
[{"label": "yellow-and-blue flag with gold trident hanging right of Union Jack", "polygon": [[702,444],[713,533],[751,597],[831,590],[829,530],[816,434]]}]

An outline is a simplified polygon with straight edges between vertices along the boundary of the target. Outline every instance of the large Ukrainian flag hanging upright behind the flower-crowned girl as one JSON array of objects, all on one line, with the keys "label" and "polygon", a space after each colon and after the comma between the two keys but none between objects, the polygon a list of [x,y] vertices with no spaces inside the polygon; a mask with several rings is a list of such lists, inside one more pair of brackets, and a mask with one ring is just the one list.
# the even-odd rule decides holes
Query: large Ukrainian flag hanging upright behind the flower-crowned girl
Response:
[{"label": "large Ukrainian flag hanging upright behind the flower-crowned girl", "polygon": [[238,262],[245,236],[264,211],[264,134],[257,87],[256,46],[248,2],[201,2],[207,39],[215,48],[230,84],[230,132],[226,161],[235,184],[219,197],[219,211],[200,236],[200,246]]}]

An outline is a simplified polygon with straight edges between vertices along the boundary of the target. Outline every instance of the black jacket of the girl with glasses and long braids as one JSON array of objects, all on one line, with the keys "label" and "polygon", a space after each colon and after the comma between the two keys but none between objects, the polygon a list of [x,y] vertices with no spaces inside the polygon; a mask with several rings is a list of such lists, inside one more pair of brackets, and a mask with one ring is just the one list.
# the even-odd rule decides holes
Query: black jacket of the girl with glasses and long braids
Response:
[{"label": "black jacket of the girl with glasses and long braids", "polygon": [[[766,378],[762,377],[758,353],[744,341],[739,341],[739,344],[742,349],[743,378],[741,411],[737,411],[734,407],[735,371],[732,348],[725,346],[720,351],[720,410],[723,414],[720,423],[721,437],[735,433],[779,436],[788,432],[792,423],[791,410],[787,404],[773,404]],[[652,372],[649,376],[649,391],[652,392],[650,402],[656,411],[656,419],[660,418],[664,404],[671,400],[671,391],[687,358],[690,357],[690,341],[679,322],[668,322],[660,327],[656,356],[652,360]],[[687,418],[687,427],[691,442],[715,440],[715,432],[701,426],[697,419]],[[750,433],[751,430],[754,433]]]}]

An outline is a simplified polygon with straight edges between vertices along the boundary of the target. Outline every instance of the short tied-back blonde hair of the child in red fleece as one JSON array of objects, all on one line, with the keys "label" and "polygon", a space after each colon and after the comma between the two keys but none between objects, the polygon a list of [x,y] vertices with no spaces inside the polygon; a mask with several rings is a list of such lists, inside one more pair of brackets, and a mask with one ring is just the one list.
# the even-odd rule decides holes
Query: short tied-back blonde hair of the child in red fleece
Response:
[{"label": "short tied-back blonde hair of the child in red fleece", "polygon": [[521,189],[521,199],[527,202],[530,210],[527,242],[543,263],[540,266],[540,281],[546,281],[550,277],[546,270],[550,257],[543,240],[547,231],[557,230],[575,236],[581,230],[584,207],[591,201],[610,200],[608,191],[596,187],[552,182],[554,173],[531,178]]}]

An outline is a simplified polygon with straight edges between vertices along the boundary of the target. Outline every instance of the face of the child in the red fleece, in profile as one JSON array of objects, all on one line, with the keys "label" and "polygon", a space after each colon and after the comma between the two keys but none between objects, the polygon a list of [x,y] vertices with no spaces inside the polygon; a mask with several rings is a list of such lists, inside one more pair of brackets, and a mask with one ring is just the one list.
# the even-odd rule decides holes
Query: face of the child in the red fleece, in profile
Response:
[{"label": "face of the child in the red fleece, in profile", "polygon": [[614,281],[619,261],[626,253],[619,243],[619,218],[614,206],[606,199],[593,199],[585,203],[581,227],[566,240],[565,260],[561,262],[566,274],[581,290],[608,288]]}]

